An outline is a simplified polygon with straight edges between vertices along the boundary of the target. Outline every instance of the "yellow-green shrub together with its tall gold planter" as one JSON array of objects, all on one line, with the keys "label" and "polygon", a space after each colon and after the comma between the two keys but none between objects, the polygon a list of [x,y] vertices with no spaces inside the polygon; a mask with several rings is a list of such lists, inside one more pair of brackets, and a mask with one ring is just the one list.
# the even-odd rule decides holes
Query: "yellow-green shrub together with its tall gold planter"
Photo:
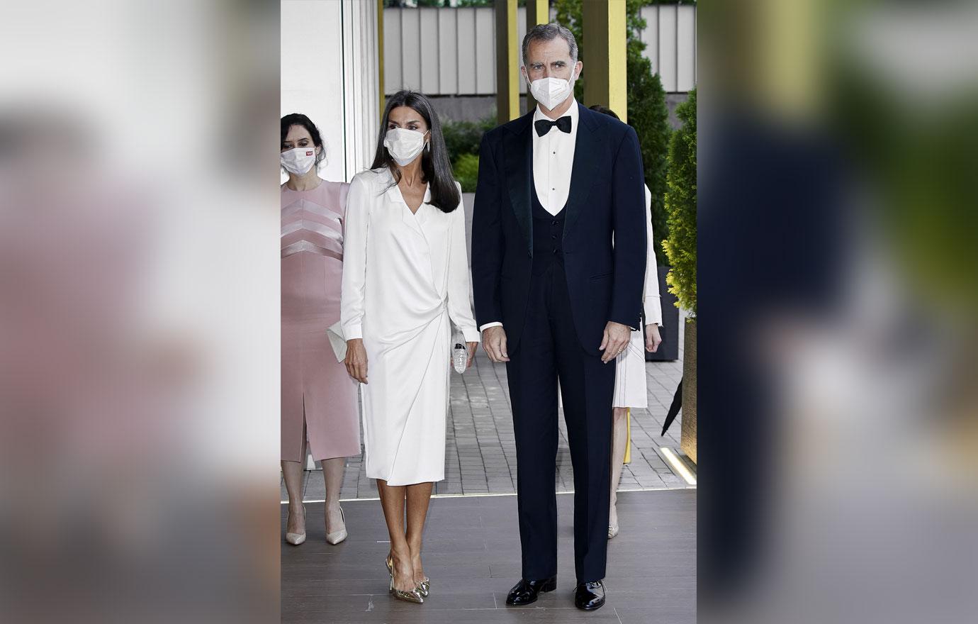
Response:
[{"label": "yellow-green shrub together with its tall gold planter", "polygon": [[663,242],[672,268],[666,277],[677,307],[686,310],[681,450],[696,461],[696,90],[676,108],[683,127],[669,141],[665,206],[669,236]]}]

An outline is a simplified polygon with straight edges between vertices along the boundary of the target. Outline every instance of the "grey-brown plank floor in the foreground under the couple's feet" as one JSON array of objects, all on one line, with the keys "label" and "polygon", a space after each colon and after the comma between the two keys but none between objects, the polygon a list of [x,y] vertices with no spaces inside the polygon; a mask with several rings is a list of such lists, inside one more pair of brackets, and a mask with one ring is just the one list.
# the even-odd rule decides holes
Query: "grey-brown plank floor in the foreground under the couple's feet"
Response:
[{"label": "grey-brown plank floor in the foreground under the couple's feet", "polygon": [[[343,503],[350,536],[337,546],[324,539],[323,504],[306,509],[305,544],[282,541],[282,622],[696,621],[694,490],[619,493],[621,533],[608,544],[607,602],[594,612],[573,602],[573,495],[557,496],[557,590],[523,607],[506,604],[520,571],[514,496],[431,501],[423,555],[431,594],[424,604],[387,595],[389,546],[378,501]],[[286,512],[283,505],[283,531]]]}]

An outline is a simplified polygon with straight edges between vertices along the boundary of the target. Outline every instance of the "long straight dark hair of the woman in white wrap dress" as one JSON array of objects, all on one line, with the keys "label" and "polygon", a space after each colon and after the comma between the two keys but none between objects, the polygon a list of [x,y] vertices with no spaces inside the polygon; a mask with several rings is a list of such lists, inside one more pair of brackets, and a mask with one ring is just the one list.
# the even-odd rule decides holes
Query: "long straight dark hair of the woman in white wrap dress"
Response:
[{"label": "long straight dark hair of the woman in white wrap dress", "polygon": [[431,102],[423,94],[402,90],[387,98],[383,119],[380,120],[377,156],[374,156],[374,164],[370,168],[379,169],[386,166],[394,176],[394,184],[401,181],[397,163],[387,152],[387,148],[383,147],[383,138],[387,133],[387,124],[390,122],[390,111],[397,107],[414,109],[424,118],[424,123],[431,132],[431,138],[428,139],[427,149],[422,152],[423,180],[427,182],[428,189],[431,191],[431,205],[442,212],[451,212],[458,207],[462,198],[459,197],[459,189],[455,186],[455,178],[452,176],[452,163],[448,159],[448,150],[445,148],[441,122],[438,121],[437,113],[431,108]]}]

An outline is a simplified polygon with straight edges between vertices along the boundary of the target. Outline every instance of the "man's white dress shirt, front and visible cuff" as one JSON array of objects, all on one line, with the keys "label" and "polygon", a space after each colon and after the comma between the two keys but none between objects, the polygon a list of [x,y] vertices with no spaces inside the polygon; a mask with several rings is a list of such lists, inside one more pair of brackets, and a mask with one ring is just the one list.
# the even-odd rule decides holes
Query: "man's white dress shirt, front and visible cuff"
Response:
[{"label": "man's white dress shirt, front and visible cuff", "polygon": [[[554,120],[544,114],[539,105],[530,124],[533,135],[533,186],[540,204],[551,214],[559,212],[570,196],[570,172],[574,167],[574,148],[577,145],[577,102],[573,102],[560,116],[570,117],[570,132],[563,132],[554,126],[550,132],[539,136],[537,120]],[[479,327],[479,332],[499,325],[503,324],[498,321],[486,323]]]}]

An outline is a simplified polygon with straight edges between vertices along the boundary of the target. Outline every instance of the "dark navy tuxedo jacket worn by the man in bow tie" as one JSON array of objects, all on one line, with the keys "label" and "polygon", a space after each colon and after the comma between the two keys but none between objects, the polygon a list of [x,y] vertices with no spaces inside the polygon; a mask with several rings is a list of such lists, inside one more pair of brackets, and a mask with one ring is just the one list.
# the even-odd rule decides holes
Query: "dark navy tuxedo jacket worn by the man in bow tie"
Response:
[{"label": "dark navy tuxedo jacket worn by the man in bow tie", "polygon": [[[578,103],[563,230],[563,265],[581,346],[600,354],[608,321],[639,328],[645,281],[645,188],[631,126]],[[479,326],[522,334],[533,263],[533,111],[482,137],[472,217],[472,288]],[[612,243],[612,235],[614,241]]]}]

